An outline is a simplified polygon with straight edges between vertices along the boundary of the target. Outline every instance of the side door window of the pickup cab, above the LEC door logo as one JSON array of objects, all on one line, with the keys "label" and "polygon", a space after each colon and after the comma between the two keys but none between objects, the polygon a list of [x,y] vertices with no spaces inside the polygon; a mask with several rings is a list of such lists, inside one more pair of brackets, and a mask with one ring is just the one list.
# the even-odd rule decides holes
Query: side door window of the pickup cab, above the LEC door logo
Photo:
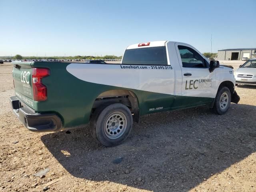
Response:
[{"label": "side door window of the pickup cab, above the LEC door logo", "polygon": [[194,49],[178,45],[178,49],[180,52],[180,57],[182,61],[183,67],[193,67],[193,68],[205,68],[206,63],[204,58],[198,54]]}]

